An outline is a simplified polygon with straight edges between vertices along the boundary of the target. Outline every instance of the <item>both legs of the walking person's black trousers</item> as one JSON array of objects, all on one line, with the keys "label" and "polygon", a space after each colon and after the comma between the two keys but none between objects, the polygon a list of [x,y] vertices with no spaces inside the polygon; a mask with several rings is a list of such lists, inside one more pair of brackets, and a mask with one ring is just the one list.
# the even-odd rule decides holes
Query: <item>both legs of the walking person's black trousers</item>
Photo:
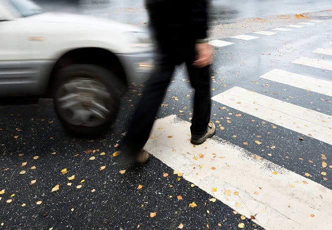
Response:
[{"label": "both legs of the walking person's black trousers", "polygon": [[[210,66],[194,67],[192,65],[195,58],[194,51],[192,50],[191,53],[185,58],[190,82],[195,89],[194,114],[190,129],[192,135],[201,136],[206,133],[210,121]],[[128,132],[120,145],[121,151],[132,156],[139,153],[149,138],[155,116],[176,66],[167,55],[161,57],[159,63],[159,67],[145,83],[142,97],[133,114]]]}]

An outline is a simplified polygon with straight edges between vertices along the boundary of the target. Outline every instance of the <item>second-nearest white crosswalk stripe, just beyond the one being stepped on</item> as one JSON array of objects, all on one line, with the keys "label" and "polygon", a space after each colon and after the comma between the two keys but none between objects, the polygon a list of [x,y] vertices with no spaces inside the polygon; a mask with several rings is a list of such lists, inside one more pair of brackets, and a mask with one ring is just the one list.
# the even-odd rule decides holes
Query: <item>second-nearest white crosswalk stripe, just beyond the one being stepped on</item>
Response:
[{"label": "second-nearest white crosswalk stripe, just beyond the one being stepped on", "polygon": [[252,116],[332,144],[332,117],[330,115],[240,87],[233,87],[212,99]]}]

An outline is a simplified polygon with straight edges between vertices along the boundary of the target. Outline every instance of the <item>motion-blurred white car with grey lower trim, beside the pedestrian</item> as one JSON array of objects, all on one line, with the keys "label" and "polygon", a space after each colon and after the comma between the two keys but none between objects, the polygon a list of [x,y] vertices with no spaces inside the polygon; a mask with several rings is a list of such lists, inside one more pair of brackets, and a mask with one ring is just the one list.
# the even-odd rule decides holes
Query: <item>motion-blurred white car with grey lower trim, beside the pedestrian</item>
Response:
[{"label": "motion-blurred white car with grey lower trim, beside the pedestrian", "polygon": [[[114,121],[123,88],[153,68],[142,28],[0,0],[0,97],[54,99],[64,127],[97,134]],[[146,75],[146,74],[143,74]]]}]

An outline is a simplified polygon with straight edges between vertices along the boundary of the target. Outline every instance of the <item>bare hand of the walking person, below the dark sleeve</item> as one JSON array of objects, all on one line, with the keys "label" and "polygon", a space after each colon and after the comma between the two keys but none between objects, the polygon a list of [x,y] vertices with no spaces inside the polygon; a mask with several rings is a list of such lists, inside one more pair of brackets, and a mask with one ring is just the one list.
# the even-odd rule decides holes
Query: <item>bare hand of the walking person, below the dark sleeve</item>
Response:
[{"label": "bare hand of the walking person, below the dark sleeve", "polygon": [[197,68],[202,68],[210,65],[213,60],[213,49],[208,42],[197,43],[195,45],[196,59],[193,65]]}]

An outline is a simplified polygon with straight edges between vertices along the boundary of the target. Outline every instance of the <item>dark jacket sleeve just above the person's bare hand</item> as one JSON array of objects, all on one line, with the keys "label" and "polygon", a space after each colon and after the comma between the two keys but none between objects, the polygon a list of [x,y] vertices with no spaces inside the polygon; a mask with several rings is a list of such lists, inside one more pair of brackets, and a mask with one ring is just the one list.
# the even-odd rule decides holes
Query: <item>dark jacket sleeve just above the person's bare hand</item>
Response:
[{"label": "dark jacket sleeve just above the person's bare hand", "polygon": [[208,36],[208,0],[191,0],[191,18],[195,39]]}]

